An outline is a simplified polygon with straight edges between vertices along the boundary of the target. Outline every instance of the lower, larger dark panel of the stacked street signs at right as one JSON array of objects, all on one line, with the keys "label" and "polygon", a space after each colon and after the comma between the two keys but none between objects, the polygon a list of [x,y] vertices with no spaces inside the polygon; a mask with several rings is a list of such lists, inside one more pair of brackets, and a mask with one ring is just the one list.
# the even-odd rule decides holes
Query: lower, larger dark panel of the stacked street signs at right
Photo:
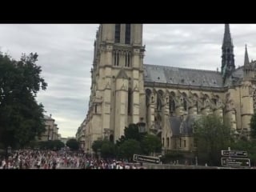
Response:
[{"label": "lower, larger dark panel of the stacked street signs at right", "polygon": [[250,167],[250,158],[222,158],[222,166]]}]

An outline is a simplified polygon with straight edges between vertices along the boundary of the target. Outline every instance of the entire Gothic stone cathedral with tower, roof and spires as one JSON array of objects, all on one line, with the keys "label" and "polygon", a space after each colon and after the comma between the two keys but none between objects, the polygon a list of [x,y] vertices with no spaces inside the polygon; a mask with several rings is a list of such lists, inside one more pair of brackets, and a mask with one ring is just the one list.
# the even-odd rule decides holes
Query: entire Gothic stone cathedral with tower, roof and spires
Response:
[{"label": "entire Gothic stone cathedral with tower, roof and spires", "polygon": [[[194,150],[192,123],[199,115],[217,114],[236,134],[250,135],[256,98],[256,61],[235,68],[230,26],[225,25],[222,70],[194,70],[143,62],[142,24],[102,24],[94,42],[89,110],[77,138],[116,142],[130,123],[146,123],[163,150]],[[170,58],[171,59],[171,58]]]}]

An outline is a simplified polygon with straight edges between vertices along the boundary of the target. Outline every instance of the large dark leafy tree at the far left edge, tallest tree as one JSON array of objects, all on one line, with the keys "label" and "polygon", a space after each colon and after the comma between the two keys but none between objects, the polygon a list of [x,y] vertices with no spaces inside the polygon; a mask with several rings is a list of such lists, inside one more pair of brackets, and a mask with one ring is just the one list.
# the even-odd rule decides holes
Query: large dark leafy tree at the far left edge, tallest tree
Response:
[{"label": "large dark leafy tree at the far left edge, tallest tree", "polygon": [[46,90],[37,66],[38,54],[22,54],[19,61],[0,53],[0,141],[4,147],[23,147],[46,130],[43,106],[35,100]]}]

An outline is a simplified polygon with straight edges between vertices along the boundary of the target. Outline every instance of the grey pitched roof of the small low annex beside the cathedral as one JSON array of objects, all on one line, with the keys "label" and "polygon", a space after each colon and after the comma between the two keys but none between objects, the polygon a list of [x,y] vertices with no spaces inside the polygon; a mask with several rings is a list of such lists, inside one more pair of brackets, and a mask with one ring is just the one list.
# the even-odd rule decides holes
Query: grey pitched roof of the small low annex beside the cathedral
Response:
[{"label": "grey pitched roof of the small low annex beside the cathedral", "polygon": [[174,136],[193,134],[193,123],[198,115],[187,115],[184,120],[181,117],[170,117],[170,128]]}]

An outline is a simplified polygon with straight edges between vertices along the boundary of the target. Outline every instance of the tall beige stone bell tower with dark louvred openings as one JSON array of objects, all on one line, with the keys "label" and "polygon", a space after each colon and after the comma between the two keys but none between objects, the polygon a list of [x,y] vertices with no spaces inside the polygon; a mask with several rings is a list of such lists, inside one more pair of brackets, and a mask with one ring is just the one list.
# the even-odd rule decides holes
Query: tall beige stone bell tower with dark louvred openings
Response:
[{"label": "tall beige stone bell tower with dark louvred openings", "polygon": [[97,134],[116,142],[126,126],[145,119],[140,105],[145,103],[142,24],[101,24],[95,45],[94,105],[101,129]]}]

